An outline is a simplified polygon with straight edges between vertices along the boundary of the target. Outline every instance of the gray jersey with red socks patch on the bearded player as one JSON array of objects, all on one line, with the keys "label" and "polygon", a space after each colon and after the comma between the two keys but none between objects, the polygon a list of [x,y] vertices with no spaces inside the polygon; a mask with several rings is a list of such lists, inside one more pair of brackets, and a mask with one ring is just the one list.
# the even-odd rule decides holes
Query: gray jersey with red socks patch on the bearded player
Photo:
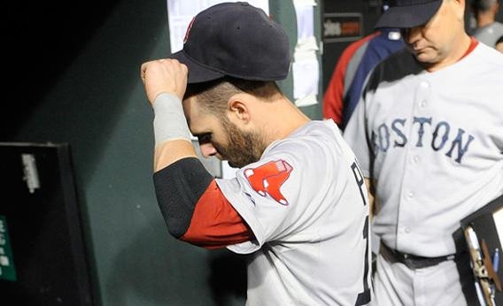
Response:
[{"label": "gray jersey with red socks patch on the bearded player", "polygon": [[370,299],[368,195],[352,150],[331,120],[270,144],[259,162],[217,180],[256,241],[250,305],[360,305]]}]

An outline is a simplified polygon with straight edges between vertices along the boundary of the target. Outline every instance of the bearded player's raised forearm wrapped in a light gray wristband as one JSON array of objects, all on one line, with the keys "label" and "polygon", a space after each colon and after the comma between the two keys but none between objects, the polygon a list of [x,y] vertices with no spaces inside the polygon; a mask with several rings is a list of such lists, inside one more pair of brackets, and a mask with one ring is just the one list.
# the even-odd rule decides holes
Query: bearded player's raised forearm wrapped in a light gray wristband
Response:
[{"label": "bearded player's raised forearm wrapped in a light gray wristband", "polygon": [[183,115],[182,101],[177,96],[163,93],[156,97],[153,109],[156,143],[154,172],[184,157],[197,157]]}]

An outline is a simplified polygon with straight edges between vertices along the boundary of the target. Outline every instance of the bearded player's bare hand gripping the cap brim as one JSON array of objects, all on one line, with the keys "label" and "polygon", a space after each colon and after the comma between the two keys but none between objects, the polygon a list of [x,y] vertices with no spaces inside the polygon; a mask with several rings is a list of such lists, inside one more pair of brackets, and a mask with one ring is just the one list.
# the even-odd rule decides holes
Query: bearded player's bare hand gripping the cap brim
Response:
[{"label": "bearded player's bare hand gripping the cap brim", "polygon": [[187,88],[188,69],[176,59],[163,58],[143,63],[141,77],[151,103],[161,93],[178,96],[181,100]]}]

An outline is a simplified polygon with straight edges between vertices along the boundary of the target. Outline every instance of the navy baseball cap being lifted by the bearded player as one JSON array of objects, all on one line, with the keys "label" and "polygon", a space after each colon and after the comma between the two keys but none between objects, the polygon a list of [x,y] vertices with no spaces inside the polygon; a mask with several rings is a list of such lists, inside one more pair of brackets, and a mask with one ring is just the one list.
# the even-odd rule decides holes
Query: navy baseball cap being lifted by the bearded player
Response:
[{"label": "navy baseball cap being lifted by the bearded player", "polygon": [[220,79],[283,80],[290,71],[288,35],[246,2],[216,4],[190,22],[183,49],[169,56],[189,69],[188,83]]}]

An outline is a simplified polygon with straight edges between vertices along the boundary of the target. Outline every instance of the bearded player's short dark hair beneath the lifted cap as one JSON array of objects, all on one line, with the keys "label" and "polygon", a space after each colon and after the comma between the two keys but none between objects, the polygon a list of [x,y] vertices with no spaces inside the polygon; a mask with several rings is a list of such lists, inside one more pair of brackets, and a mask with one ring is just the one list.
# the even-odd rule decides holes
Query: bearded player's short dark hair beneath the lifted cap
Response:
[{"label": "bearded player's short dark hair beneath the lifted cap", "polygon": [[197,96],[197,102],[201,103],[207,111],[220,116],[227,110],[228,99],[239,93],[256,96],[265,102],[271,101],[277,95],[282,95],[281,89],[274,80],[223,77],[218,80],[189,84],[183,99]]}]

